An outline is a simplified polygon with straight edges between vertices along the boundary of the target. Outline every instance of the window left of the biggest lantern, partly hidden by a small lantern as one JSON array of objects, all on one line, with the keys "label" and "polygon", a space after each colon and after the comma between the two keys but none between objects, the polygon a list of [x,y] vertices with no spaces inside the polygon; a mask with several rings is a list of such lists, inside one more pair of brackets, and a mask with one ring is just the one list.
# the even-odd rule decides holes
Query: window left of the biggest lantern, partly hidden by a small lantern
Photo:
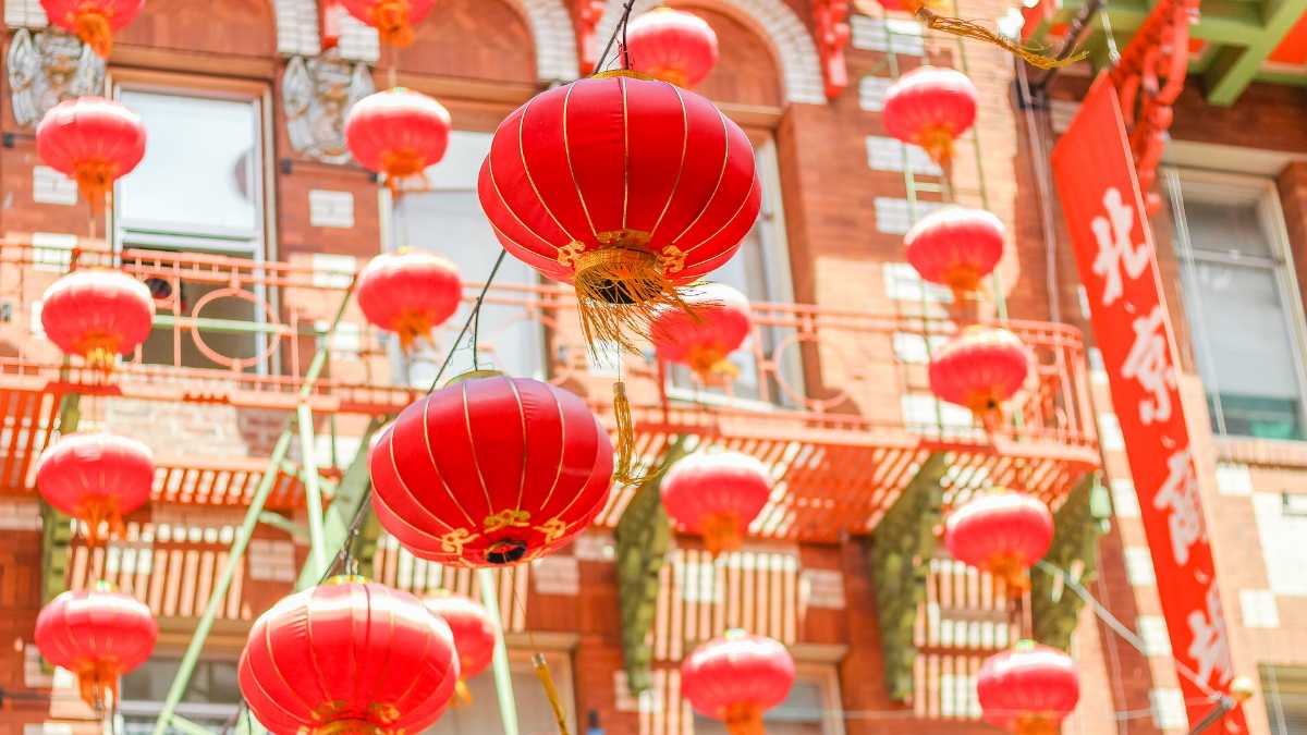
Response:
[{"label": "window left of the biggest lantern, partly hidden by a small lantern", "polygon": [[[455,131],[444,160],[426,170],[430,191],[408,192],[395,207],[391,246],[434,250],[454,260],[468,284],[484,282],[502,250],[477,199],[477,174],[490,152],[490,133]],[[532,286],[540,279],[527,264],[510,256],[505,258],[494,282],[497,286]],[[506,292],[501,296],[521,301],[527,294]],[[400,370],[396,381],[429,386],[469,309],[471,305],[464,303],[437,332],[437,344],[418,343],[410,357],[403,356],[395,344],[392,364]],[[486,302],[481,307],[478,341],[482,368],[493,365],[511,375],[544,377],[544,335],[537,320],[524,316],[525,311],[518,303]],[[472,350],[464,343],[444,377],[471,369]]]}]

